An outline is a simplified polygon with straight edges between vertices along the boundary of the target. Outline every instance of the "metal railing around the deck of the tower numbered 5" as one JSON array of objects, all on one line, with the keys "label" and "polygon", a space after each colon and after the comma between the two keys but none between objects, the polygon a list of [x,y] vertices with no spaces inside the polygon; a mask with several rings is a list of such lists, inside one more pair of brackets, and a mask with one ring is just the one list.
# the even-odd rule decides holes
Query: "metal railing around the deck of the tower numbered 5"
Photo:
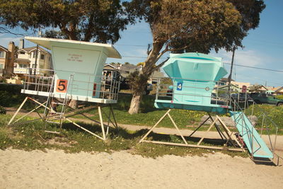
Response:
[{"label": "metal railing around the deck of the tower numbered 5", "polygon": [[[47,92],[54,93],[54,81],[53,79],[56,76],[59,76],[53,70],[47,69],[36,69],[38,74],[33,74],[34,69],[28,68],[25,74],[25,82],[23,89],[29,91],[37,91],[37,92]],[[44,76],[46,71],[52,71],[51,76]],[[64,71],[61,71],[62,72]],[[101,98],[101,99],[110,99],[117,100],[118,93],[120,91],[120,81],[116,79],[112,79],[107,76],[96,76],[94,74],[86,74],[86,73],[71,73],[69,71],[65,71],[64,74],[72,75],[71,81],[69,81],[68,92],[69,96],[76,96],[77,91],[83,91],[83,96],[86,98]],[[94,88],[94,86],[96,86]],[[99,93],[99,96],[94,97],[93,91]]]}]

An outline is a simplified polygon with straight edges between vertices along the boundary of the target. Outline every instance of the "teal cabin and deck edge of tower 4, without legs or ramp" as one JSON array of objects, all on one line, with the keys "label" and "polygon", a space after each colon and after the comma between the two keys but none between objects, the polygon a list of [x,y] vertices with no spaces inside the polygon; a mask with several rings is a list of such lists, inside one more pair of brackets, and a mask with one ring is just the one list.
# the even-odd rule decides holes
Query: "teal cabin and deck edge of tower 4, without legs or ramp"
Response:
[{"label": "teal cabin and deck edge of tower 4, without legs or ramp", "polygon": [[201,53],[171,54],[163,70],[173,81],[171,100],[155,101],[156,108],[226,113],[227,105],[212,103],[212,91],[227,74],[221,58]]}]

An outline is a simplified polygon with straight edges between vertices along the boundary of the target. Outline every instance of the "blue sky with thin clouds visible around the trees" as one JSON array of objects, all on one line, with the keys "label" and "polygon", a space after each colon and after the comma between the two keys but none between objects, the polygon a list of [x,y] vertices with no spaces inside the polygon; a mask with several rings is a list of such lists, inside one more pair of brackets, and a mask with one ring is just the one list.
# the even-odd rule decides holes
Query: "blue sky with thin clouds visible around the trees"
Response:
[{"label": "blue sky with thin clouds visible around the trees", "polygon": [[[265,1],[266,8],[260,16],[259,28],[250,30],[248,37],[243,40],[243,49],[237,50],[235,64],[251,67],[262,67],[275,69],[282,72],[250,69],[245,67],[234,67],[233,79],[251,84],[265,84],[267,86],[283,86],[283,1]],[[22,33],[21,29],[14,32]],[[33,34],[30,34],[31,36]],[[0,45],[7,47],[9,41],[18,45],[20,38],[15,35],[0,34]],[[107,62],[130,62],[137,64],[146,59],[147,45],[152,42],[149,26],[144,23],[129,25],[127,30],[122,32],[122,38],[114,45],[122,55],[122,59],[108,59]],[[34,44],[25,40],[25,47]],[[211,55],[222,57],[224,62],[231,62],[231,52],[220,50],[217,54]],[[163,55],[166,58],[168,55]],[[229,65],[226,65],[229,70]]]}]

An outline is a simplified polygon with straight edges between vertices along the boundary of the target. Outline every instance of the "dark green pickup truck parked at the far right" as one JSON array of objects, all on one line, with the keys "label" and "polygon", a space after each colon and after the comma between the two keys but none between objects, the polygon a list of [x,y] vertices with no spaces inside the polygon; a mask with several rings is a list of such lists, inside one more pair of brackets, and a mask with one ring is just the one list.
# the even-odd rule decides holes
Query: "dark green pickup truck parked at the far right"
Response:
[{"label": "dark green pickup truck parked at the far right", "polygon": [[250,97],[253,98],[255,103],[267,103],[272,105],[283,105],[283,100],[276,98],[275,96],[266,93],[250,93]]}]

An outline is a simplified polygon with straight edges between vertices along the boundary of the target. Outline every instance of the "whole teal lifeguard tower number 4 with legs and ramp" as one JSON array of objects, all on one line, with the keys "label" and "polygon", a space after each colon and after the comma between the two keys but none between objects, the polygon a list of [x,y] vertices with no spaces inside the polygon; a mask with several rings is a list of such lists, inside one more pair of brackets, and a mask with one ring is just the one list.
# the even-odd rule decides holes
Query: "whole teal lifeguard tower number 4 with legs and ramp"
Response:
[{"label": "whole teal lifeguard tower number 4 with legs and ramp", "polygon": [[[238,101],[231,98],[229,90],[225,91],[221,89],[221,87],[223,88],[223,86],[227,85],[219,81],[227,74],[221,58],[202,53],[171,54],[170,59],[168,59],[162,68],[172,80],[173,85],[168,86],[158,82],[154,105],[156,108],[168,108],[169,110],[151,127],[149,132],[139,142],[231,151],[245,151],[248,149],[253,158],[273,159],[275,154],[273,147],[275,147],[275,144],[270,144],[270,148],[267,147],[261,139],[260,134],[258,134],[243,112],[243,107],[238,104]],[[181,132],[179,130],[178,125],[175,124],[170,115],[171,109],[204,111],[208,114],[208,117],[193,132],[187,134],[185,137],[183,134],[184,131]],[[211,113],[216,113],[215,119],[212,118]],[[229,130],[229,127],[219,117],[221,114],[229,114],[231,116],[238,130],[237,133]],[[170,118],[175,129],[178,131],[178,135],[183,139],[183,143],[146,140],[146,137],[166,116]],[[204,136],[200,137],[197,144],[189,144],[187,142],[208,120],[211,120],[212,123],[209,125],[207,132],[214,126],[221,140],[224,142],[223,147],[202,145]]]}]

